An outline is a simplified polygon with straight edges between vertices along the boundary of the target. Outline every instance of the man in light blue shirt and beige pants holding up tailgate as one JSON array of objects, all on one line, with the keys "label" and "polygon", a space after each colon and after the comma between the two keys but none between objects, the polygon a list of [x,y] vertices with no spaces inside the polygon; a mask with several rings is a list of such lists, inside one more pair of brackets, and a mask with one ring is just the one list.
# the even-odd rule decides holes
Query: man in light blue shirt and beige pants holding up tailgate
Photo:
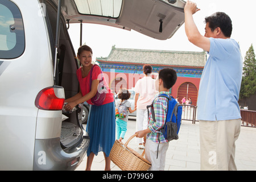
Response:
[{"label": "man in light blue shirt and beige pants holding up tailgate", "polygon": [[189,0],[184,8],[189,42],[209,54],[197,100],[201,170],[237,170],[234,156],[241,126],[238,105],[242,80],[240,47],[230,39],[232,21],[225,13],[217,12],[205,18],[205,35],[201,35],[192,16],[199,10],[196,3]]}]

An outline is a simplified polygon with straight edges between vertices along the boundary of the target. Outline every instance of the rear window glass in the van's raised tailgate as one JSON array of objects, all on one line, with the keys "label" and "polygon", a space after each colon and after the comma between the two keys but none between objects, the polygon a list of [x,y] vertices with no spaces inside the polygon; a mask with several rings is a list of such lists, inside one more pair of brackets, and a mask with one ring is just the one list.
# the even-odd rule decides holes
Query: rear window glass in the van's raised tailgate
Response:
[{"label": "rear window glass in the van's raised tailgate", "polygon": [[122,7],[122,0],[75,0],[75,3],[80,14],[112,18],[118,18]]}]

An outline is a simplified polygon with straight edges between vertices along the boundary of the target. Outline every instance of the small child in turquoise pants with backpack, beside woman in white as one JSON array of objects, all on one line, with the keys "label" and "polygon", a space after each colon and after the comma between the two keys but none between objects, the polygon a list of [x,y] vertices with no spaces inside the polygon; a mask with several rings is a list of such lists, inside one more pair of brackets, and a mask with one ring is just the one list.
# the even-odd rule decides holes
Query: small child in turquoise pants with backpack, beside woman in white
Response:
[{"label": "small child in turquoise pants with backpack, beside woman in white", "polygon": [[133,113],[136,110],[131,109],[131,103],[127,101],[131,96],[131,93],[127,89],[120,89],[118,93],[118,98],[120,100],[117,102],[117,107],[115,107],[115,123],[117,130],[117,139],[121,142],[125,138],[125,133],[127,131],[127,122],[128,122],[128,111]]}]

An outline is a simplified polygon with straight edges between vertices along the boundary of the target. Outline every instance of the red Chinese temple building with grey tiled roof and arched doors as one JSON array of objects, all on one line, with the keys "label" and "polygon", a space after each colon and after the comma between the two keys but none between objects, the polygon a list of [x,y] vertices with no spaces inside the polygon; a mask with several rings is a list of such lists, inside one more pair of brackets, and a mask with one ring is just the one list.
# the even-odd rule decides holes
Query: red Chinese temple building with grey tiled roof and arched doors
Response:
[{"label": "red Chinese temple building with grey tiled roof and arched doors", "polygon": [[196,105],[207,53],[127,49],[113,46],[108,57],[97,57],[96,61],[113,92],[118,92],[120,88],[133,88],[136,82],[144,77],[142,69],[144,64],[152,66],[152,78],[156,78],[160,69],[172,68],[177,73],[177,81],[170,89],[171,95],[174,98],[179,97],[179,101],[183,97],[190,97],[192,105]]}]

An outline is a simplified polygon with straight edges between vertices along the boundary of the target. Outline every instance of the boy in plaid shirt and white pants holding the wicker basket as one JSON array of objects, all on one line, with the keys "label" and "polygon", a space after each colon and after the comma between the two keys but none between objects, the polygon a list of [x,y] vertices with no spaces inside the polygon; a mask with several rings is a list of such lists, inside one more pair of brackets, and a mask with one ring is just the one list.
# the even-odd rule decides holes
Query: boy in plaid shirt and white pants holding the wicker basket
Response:
[{"label": "boy in plaid shirt and white pants holding the wicker basket", "polygon": [[[161,69],[155,80],[155,86],[159,90],[159,96],[161,94],[168,96],[169,89],[175,84],[176,80],[177,75],[174,69]],[[151,171],[164,170],[166,152],[169,146],[169,140],[164,137],[163,131],[160,130],[166,123],[168,98],[159,96],[152,103],[147,129],[136,132],[139,138],[146,136],[145,158],[151,162],[149,169]],[[152,114],[152,109],[154,109],[154,114]]]}]

